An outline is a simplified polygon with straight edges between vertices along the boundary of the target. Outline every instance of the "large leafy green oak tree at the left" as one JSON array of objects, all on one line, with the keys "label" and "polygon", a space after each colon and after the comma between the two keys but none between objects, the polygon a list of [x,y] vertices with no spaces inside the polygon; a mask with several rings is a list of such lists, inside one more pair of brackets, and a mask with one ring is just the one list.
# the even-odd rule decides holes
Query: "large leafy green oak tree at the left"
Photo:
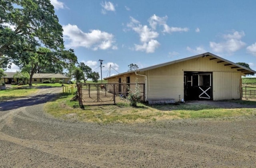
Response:
[{"label": "large leafy green oak tree at the left", "polygon": [[60,72],[76,63],[74,51],[64,50],[62,31],[50,0],[1,0],[1,66],[27,70],[31,84],[36,72]]}]

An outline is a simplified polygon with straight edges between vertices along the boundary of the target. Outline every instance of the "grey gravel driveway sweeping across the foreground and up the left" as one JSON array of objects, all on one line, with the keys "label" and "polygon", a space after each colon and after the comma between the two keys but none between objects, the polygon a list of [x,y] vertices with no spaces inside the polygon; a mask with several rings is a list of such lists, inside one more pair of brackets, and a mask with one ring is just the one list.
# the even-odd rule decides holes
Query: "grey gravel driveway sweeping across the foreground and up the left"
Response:
[{"label": "grey gravel driveway sweeping across the foreground and up the left", "polygon": [[255,167],[256,117],[94,124],[55,119],[61,88],[0,103],[0,167]]}]

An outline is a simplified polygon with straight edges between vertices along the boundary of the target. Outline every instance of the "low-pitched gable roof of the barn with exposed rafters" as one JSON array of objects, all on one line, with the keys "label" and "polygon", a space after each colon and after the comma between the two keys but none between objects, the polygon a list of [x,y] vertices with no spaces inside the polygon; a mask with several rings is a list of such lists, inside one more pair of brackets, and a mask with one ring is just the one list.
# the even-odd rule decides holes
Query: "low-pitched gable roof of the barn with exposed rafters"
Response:
[{"label": "low-pitched gable roof of the barn with exposed rafters", "polygon": [[134,70],[134,71],[124,72],[124,73],[117,74],[117,75],[114,75],[114,76],[110,76],[110,77],[107,77],[107,78],[104,78],[104,79],[106,80],[106,79],[109,79],[109,78],[112,78],[112,77],[115,77],[115,76],[119,76],[119,75],[122,75],[122,74],[128,74],[128,73],[131,73],[131,72],[143,72],[143,71],[147,71],[147,70],[152,70],[152,69],[155,69],[155,68],[160,68],[162,66],[167,66],[167,65],[171,65],[171,64],[175,64],[175,63],[180,63],[180,62],[188,61],[188,60],[195,59],[195,58],[198,58],[198,57],[206,57],[210,61],[215,61],[218,64],[224,64],[224,66],[229,66],[230,68],[236,69],[237,71],[240,71],[240,72],[242,72],[244,74],[256,73],[256,71],[254,71],[252,69],[249,69],[249,68],[246,68],[246,67],[244,67],[242,65],[233,63],[231,61],[228,61],[226,59],[223,59],[223,58],[221,58],[221,57],[219,57],[217,55],[214,55],[214,54],[208,52],[208,53],[203,53],[203,54],[195,55],[195,56],[192,56],[192,57],[187,57],[187,58],[184,58],[184,59],[170,61],[170,62],[167,62],[167,63],[162,63],[162,64],[156,64],[156,65],[153,65],[153,66],[148,66],[146,68],[141,68],[141,69]]}]

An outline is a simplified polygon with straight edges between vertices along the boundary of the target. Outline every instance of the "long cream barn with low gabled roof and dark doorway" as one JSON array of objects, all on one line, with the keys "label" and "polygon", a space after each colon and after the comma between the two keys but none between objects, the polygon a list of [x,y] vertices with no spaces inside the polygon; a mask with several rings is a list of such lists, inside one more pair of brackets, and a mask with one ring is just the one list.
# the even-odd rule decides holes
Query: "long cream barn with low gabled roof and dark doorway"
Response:
[{"label": "long cream barn with low gabled roof and dark doorway", "polygon": [[145,84],[149,104],[242,98],[242,76],[256,71],[212,53],[157,64],[104,78],[108,83]]}]

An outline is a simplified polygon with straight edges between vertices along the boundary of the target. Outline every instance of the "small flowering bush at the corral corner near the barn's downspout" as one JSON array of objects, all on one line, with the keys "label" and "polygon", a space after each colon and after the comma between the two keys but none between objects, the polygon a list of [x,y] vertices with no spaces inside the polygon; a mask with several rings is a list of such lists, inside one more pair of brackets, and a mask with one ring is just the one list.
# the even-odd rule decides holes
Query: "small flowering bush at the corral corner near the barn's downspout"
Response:
[{"label": "small flowering bush at the corral corner near the barn's downspout", "polygon": [[138,84],[137,78],[135,80],[135,88],[134,90],[131,90],[130,88],[128,88],[128,96],[127,96],[127,100],[130,101],[130,105],[133,107],[136,107],[138,102],[140,102],[141,99],[141,95],[140,95],[140,86]]}]

